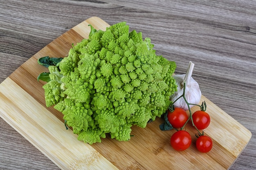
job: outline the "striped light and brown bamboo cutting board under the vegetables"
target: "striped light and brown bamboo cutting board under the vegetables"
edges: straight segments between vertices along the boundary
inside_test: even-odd
[[[117,141],[107,135],[101,143],[89,145],[78,141],[71,129],[65,129],[63,115],[53,107],[45,107],[44,82],[37,82],[37,76],[48,70],[38,65],[37,60],[47,55],[66,56],[72,43],[88,38],[88,24],[97,30],[109,26],[97,17],[85,20],[45,46],[0,84],[2,119],[63,170],[229,169],[252,133],[204,96],[201,102],[207,103],[211,116],[205,134],[213,139],[213,148],[208,153],[196,150],[196,130],[191,124],[186,127],[192,136],[191,147],[182,152],[173,150],[170,137],[175,130],[159,130],[163,122],[160,118],[146,128],[133,126],[130,141]],[[192,108],[192,112],[194,109],[198,108]]]

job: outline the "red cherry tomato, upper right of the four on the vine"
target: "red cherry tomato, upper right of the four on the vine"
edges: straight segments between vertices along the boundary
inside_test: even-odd
[[[202,110],[198,110],[193,113],[192,119],[195,127],[198,128],[198,130],[206,129],[211,121],[209,114]]]

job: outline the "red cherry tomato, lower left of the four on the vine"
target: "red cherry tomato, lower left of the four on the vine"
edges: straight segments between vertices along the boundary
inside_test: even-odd
[[[177,151],[186,150],[191,145],[189,132],[179,130],[171,136],[171,146]]]

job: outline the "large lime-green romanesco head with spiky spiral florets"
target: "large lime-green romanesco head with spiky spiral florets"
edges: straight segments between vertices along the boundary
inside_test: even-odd
[[[177,91],[176,63],[156,55],[150,38],[129,32],[126,22],[96,30],[73,45],[43,86],[47,107],[63,113],[78,139],[101,142],[106,133],[130,140],[133,125],[161,117]]]

